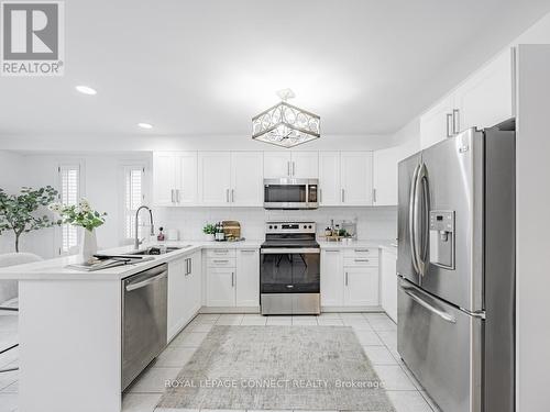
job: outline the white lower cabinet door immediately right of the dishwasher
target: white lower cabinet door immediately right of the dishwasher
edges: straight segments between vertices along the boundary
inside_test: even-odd
[[[167,309],[167,338],[172,339],[186,323],[187,287],[185,258],[170,261],[168,265],[168,309]]]

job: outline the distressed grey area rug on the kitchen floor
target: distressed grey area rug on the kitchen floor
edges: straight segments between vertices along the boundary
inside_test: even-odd
[[[215,326],[157,407],[395,411],[348,326]]]

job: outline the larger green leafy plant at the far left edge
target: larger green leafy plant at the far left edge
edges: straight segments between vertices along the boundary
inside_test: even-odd
[[[56,196],[57,190],[51,186],[40,189],[22,187],[20,194],[8,194],[0,188],[0,234],[13,231],[15,252],[19,252],[19,238],[23,233],[61,224],[61,221],[35,213],[41,207],[48,205]]]

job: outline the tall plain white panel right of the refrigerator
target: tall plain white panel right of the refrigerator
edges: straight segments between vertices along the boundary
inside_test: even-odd
[[[549,20],[550,22],[550,20]],[[550,45],[518,48],[516,141],[517,411],[549,409]]]

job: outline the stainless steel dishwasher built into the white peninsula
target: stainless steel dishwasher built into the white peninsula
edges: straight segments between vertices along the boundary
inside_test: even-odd
[[[166,347],[168,265],[122,280],[122,390]]]

